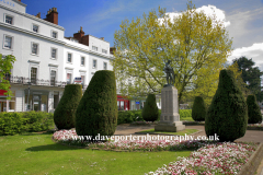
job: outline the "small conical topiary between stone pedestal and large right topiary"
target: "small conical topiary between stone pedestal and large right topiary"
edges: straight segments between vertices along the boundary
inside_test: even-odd
[[[204,121],[206,117],[206,106],[202,96],[196,96],[192,109],[192,118],[195,121]]]

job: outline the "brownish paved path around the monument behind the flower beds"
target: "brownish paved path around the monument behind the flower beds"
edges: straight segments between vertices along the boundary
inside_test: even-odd
[[[155,126],[133,126],[129,124],[123,124],[118,125],[116,128],[116,131],[114,136],[133,136],[133,137],[141,137],[141,135],[136,135],[135,132],[139,132],[141,130],[147,129],[153,129]],[[204,126],[185,126],[185,129],[198,129],[199,132],[193,135],[194,139],[196,139],[198,136],[206,136],[205,133],[205,127]],[[146,136],[146,135],[145,135]],[[149,135],[150,137],[153,137],[156,135]],[[237,139],[236,141],[245,141],[245,142],[263,142],[263,131],[258,130],[247,130],[244,137]],[[263,160],[261,161],[261,164],[258,168],[256,175],[263,175]]]

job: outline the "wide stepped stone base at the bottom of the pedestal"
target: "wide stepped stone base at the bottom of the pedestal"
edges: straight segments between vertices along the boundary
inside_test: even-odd
[[[169,122],[159,122],[155,126],[155,131],[169,131],[169,132],[178,132],[185,129],[185,125],[182,121],[174,121],[172,124]]]

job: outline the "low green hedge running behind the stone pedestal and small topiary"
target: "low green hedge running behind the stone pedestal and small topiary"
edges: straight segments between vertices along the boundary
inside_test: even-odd
[[[117,125],[130,124],[133,121],[144,121],[141,112],[142,112],[141,109],[140,110],[119,110]],[[185,117],[192,117],[192,109],[181,109],[179,114],[180,114],[180,119]],[[160,116],[161,116],[161,109],[158,109],[158,121],[160,120]]]

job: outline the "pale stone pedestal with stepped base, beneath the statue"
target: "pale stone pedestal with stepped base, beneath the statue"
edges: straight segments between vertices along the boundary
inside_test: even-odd
[[[155,127],[156,131],[176,132],[185,129],[185,125],[180,121],[178,90],[172,86],[165,86],[161,91],[161,118]]]

